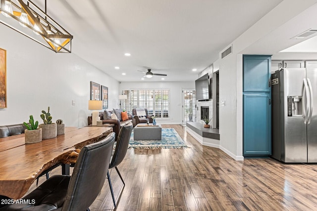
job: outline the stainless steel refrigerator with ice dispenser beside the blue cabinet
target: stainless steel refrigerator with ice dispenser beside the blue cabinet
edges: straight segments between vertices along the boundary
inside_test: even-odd
[[[317,163],[317,68],[272,74],[272,156],[285,163]]]

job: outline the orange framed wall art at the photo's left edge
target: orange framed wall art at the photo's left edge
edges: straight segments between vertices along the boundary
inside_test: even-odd
[[[0,48],[0,108],[6,108],[6,104],[6,50]]]

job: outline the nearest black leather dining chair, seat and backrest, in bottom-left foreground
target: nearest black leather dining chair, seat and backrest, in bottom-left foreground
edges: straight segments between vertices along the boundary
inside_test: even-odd
[[[89,211],[100,193],[108,171],[115,133],[84,146],[71,176],[53,175],[22,199],[0,211]]]

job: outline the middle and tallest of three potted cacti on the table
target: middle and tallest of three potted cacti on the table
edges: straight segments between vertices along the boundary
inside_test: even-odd
[[[48,112],[42,111],[41,119],[43,124],[40,124],[39,127],[42,128],[42,138],[55,138],[57,136],[57,126],[56,123],[52,123],[50,107],[48,107]]]

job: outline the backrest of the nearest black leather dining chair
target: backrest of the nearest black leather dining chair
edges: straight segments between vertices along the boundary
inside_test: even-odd
[[[81,149],[61,211],[87,210],[95,201],[106,180],[114,140],[112,132]]]

